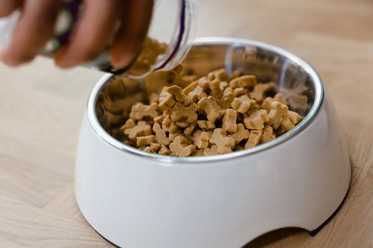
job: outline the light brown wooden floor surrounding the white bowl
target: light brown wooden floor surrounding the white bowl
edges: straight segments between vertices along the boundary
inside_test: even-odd
[[[315,236],[284,229],[247,247],[373,247],[373,1],[198,0],[197,36],[255,39],[310,62],[334,101],[353,174],[339,213]],[[101,72],[47,59],[0,65],[0,247],[111,247],[74,198],[87,97]]]

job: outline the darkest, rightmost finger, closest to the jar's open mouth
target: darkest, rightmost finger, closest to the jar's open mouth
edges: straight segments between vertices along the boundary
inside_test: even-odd
[[[111,47],[111,62],[123,68],[132,62],[145,39],[153,12],[153,0],[125,0],[122,26]]]

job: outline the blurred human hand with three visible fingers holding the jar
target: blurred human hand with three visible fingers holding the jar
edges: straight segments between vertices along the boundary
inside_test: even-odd
[[[20,9],[21,15],[0,60],[10,66],[30,62],[54,36],[63,0],[0,0],[0,17]],[[83,0],[84,11],[68,44],[55,54],[68,68],[95,59],[111,44],[111,63],[126,67],[141,48],[150,25],[153,0]]]

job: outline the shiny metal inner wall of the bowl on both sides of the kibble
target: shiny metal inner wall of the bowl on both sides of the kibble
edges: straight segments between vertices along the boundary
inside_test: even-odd
[[[228,74],[239,70],[244,74],[256,75],[259,83],[274,82],[276,89],[268,92],[268,96],[282,93],[289,102],[289,109],[306,117],[296,126],[298,130],[290,130],[286,136],[295,135],[297,131],[308,124],[322,104],[322,83],[313,68],[295,55],[271,45],[224,39],[195,42],[183,64],[186,75],[201,77],[215,69],[225,68]],[[108,134],[119,141],[123,141],[119,127],[126,121],[125,117],[134,103],[126,102],[125,99],[120,100],[120,98],[127,96],[128,99],[134,98],[136,100],[137,98],[134,96],[138,96],[137,101],[140,101],[146,95],[144,80],[124,80],[127,80],[129,85],[133,85],[133,87],[121,89],[120,92],[110,89],[115,83],[115,77],[112,76],[100,85],[97,92],[92,93],[93,96],[91,95],[91,98],[95,99],[93,103],[94,115],[98,123]],[[157,87],[156,83],[152,87]],[[111,101],[119,99],[122,108],[118,109],[117,113],[115,110],[108,113],[107,99]],[[123,108],[127,109],[124,111]],[[110,118],[116,118],[115,122],[108,120]],[[268,143],[276,142],[281,136]]]

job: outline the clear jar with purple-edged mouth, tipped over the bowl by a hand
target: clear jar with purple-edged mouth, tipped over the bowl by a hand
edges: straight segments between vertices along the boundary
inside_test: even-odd
[[[82,2],[82,0],[64,1],[57,19],[55,36],[48,41],[41,55],[52,58],[60,46],[69,41],[79,19]],[[195,0],[154,0],[148,38],[129,66],[114,69],[110,63],[109,46],[96,60],[83,66],[131,78],[141,78],[153,71],[173,69],[190,50],[196,29],[195,11]],[[0,18],[0,44],[9,42],[18,18],[17,11],[8,17]],[[156,50],[161,54],[157,54]]]

